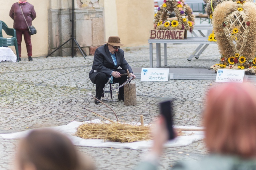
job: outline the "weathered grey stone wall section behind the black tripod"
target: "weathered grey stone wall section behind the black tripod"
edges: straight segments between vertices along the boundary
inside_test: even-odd
[[[72,4],[67,9],[50,8],[48,11],[49,53],[62,45],[52,56],[70,56]],[[96,48],[104,44],[103,8],[98,0],[75,0],[74,38],[86,55],[93,55]],[[75,43],[74,49],[76,56],[82,55]]]

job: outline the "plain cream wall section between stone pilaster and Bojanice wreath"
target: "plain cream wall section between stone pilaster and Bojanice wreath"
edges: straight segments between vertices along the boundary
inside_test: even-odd
[[[105,39],[119,36],[122,47],[147,45],[154,20],[154,0],[104,0]]]

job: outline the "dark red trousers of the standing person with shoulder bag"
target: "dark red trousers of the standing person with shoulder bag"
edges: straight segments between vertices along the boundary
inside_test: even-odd
[[[17,35],[19,57],[21,57],[22,35],[24,35],[24,40],[26,43],[28,56],[32,56],[31,35],[29,34],[29,30],[28,29],[16,29],[16,35]]]

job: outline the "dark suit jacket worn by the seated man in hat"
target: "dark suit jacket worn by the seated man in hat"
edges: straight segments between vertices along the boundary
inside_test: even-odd
[[[89,72],[89,78],[91,82],[94,83],[95,77],[99,72],[105,73],[107,76],[111,77],[111,72],[116,71],[120,66],[122,69],[128,69],[130,73],[132,73],[132,69],[124,58],[124,51],[119,49],[116,53],[116,62],[117,65],[114,66],[113,59],[110,55],[108,45],[105,44],[96,49],[94,53],[93,67]]]

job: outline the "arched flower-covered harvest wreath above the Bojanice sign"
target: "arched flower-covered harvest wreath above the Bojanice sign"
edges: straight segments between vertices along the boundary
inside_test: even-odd
[[[184,0],[164,0],[155,13],[154,24],[156,30],[188,30],[194,28],[195,15]],[[176,19],[167,17],[168,12],[175,12]],[[187,17],[186,17],[187,15]]]

